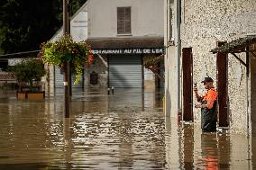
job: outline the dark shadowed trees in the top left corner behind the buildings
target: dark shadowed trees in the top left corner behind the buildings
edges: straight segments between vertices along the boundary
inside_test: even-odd
[[[72,10],[86,1],[70,1]],[[61,25],[62,0],[1,0],[0,52],[37,50]]]

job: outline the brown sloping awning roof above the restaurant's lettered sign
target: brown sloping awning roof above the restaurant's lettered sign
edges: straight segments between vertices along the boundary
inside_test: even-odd
[[[151,38],[97,38],[87,39],[92,49],[140,49],[140,48],[162,48],[163,37]]]

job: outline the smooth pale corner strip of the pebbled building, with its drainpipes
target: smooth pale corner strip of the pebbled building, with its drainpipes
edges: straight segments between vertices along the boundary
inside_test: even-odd
[[[169,57],[169,49],[166,49],[166,66],[169,66],[169,59],[175,59],[171,60],[170,62],[175,63],[173,69],[175,69],[175,75],[171,75],[171,78],[175,79],[175,81],[177,81],[176,83],[174,83],[173,85],[169,85],[169,70],[166,69],[166,116],[170,116],[170,111],[169,109],[171,109],[172,112],[174,112],[175,114],[173,116],[177,116],[178,114],[181,113],[181,105],[180,105],[180,53],[181,53],[181,47],[180,47],[180,0],[166,0],[166,4],[167,4],[167,16],[166,16],[166,41],[165,41],[165,45],[167,47],[175,45],[175,47],[172,47],[173,49],[173,57]],[[173,10],[174,10],[174,20],[173,20],[173,26],[171,21],[172,18],[172,9],[170,8],[170,4],[173,4]],[[174,40],[174,43],[172,43],[172,40]],[[166,67],[168,68],[168,67]],[[177,70],[176,70],[177,68]],[[169,86],[173,86],[172,89],[169,89]],[[172,90],[172,93],[170,93],[169,91]],[[171,95],[171,97],[170,97]],[[172,100],[170,100],[170,98]],[[174,105],[175,104],[175,105]]]

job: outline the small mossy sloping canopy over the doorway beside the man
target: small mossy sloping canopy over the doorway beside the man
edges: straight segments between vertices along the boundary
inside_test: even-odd
[[[213,52],[214,54],[217,52],[225,52],[225,53],[245,52],[245,48],[254,43],[256,43],[256,35],[250,35],[244,38],[232,40],[228,43],[225,43],[221,47],[211,49],[210,52]]]

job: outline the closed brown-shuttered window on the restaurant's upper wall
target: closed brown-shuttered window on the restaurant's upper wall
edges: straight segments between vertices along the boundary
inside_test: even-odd
[[[131,33],[131,7],[117,8],[117,34]]]

